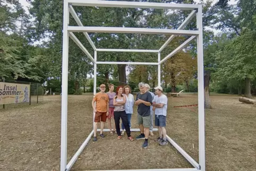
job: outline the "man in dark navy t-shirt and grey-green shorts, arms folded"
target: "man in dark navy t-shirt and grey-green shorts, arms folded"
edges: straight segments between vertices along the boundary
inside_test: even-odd
[[[148,147],[149,127],[150,127],[150,106],[152,105],[152,96],[146,90],[143,82],[139,83],[140,92],[136,96],[135,105],[138,106],[137,122],[140,126],[140,135],[136,136],[136,140],[145,139],[142,144],[143,148]]]

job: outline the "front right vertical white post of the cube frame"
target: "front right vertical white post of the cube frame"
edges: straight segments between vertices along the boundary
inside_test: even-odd
[[[202,6],[198,8],[197,13],[197,37],[198,51],[198,126],[199,126],[199,165],[201,170],[206,169],[205,149],[204,149],[204,85],[203,85],[203,25],[202,25]]]

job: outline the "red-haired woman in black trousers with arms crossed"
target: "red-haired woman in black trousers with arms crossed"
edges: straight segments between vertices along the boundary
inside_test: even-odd
[[[125,96],[123,96],[123,88],[122,86],[119,86],[116,89],[116,97],[114,98],[114,101],[113,101],[113,105],[115,106],[114,119],[116,124],[116,133],[118,135],[117,139],[121,139],[121,131],[120,131],[120,118],[121,118],[125,127],[126,134],[128,136],[128,139],[131,141],[134,141],[131,136],[128,117],[125,113],[125,106],[124,106],[125,102],[126,102],[126,98]]]

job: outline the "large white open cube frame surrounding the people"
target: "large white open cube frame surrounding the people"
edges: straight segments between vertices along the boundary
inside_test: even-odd
[[[158,8],[173,10],[191,10],[189,16],[183,21],[177,30],[172,29],[149,29],[149,28],[118,28],[118,27],[84,27],[78,15],[75,13],[74,6],[99,6],[99,7],[130,7],[130,8]],[[78,26],[69,26],[69,14],[73,16]],[[197,30],[182,30],[191,19],[197,15]],[[72,32],[83,32],[87,40],[90,42],[94,50],[94,57],[90,55],[88,50],[81,44],[78,38]],[[147,33],[147,34],[172,34],[165,44],[158,50],[147,49],[97,49],[90,39],[87,32],[115,32],[115,33]],[[160,59],[161,51],[169,44],[176,35],[191,36],[182,45],[177,47],[172,53],[162,60]],[[168,4],[168,3],[148,3],[148,2],[125,2],[125,1],[96,1],[96,0],[64,0],[63,5],[63,57],[62,57],[62,117],[61,117],[61,171],[70,170],[78,156],[86,147],[87,143],[93,135],[93,129],[88,138],[82,143],[81,147],[67,163],[67,78],[68,78],[68,58],[69,58],[69,37],[78,45],[82,51],[91,59],[94,64],[94,75],[96,75],[97,64],[134,64],[134,65],[158,65],[158,86],[160,86],[160,65],[168,58],[172,57],[192,40],[197,38],[198,53],[198,124],[199,124],[199,164],[190,157],[176,142],[169,136],[168,141],[190,162],[194,168],[172,168],[172,169],[139,169],[139,170],[202,170],[205,168],[205,149],[204,149],[204,91],[203,91],[203,26],[202,26],[202,5],[199,4]],[[158,62],[98,62],[97,52],[148,52],[158,53]],[[96,94],[96,79],[93,80],[93,95]],[[93,114],[94,119],[95,114]],[[92,125],[93,126],[93,125]],[[98,129],[98,131],[100,131]],[[104,129],[109,131],[109,129]],[[131,129],[131,131],[139,131],[139,129]],[[154,129],[153,131],[157,131]]]

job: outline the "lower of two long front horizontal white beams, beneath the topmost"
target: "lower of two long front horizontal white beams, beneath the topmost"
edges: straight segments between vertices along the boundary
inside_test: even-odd
[[[197,36],[198,30],[174,30],[174,29],[150,29],[150,28],[124,28],[124,27],[80,27],[69,26],[71,32],[105,32],[105,33],[140,33],[140,34],[161,34],[161,35],[187,35]]]

